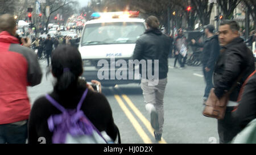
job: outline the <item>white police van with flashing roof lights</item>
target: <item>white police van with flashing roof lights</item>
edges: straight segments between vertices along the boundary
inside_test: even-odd
[[[120,79],[114,75],[120,73],[121,65],[116,65],[118,60],[128,64],[135,42],[146,30],[144,19],[138,18],[138,15],[138,11],[92,14],[94,19],[85,23],[79,44],[84,65],[82,76],[86,81],[96,79],[102,86],[140,82],[128,78],[128,66],[122,68],[122,74],[127,74],[127,78]]]

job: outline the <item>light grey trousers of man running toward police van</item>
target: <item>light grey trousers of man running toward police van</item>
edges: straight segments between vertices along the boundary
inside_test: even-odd
[[[141,81],[141,89],[143,91],[143,97],[145,104],[151,103],[155,106],[156,112],[158,112],[158,122],[159,122],[159,130],[155,131],[156,133],[163,132],[163,124],[164,124],[164,91],[167,85],[167,78],[159,79],[158,85],[156,86],[148,86],[148,79],[142,79]]]

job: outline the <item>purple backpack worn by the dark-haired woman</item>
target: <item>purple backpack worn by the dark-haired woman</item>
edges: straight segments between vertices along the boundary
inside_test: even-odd
[[[56,102],[48,94],[47,100],[51,102],[62,113],[51,115],[47,122],[49,131],[53,132],[52,143],[57,144],[106,144],[108,143],[96,127],[81,111],[82,102],[88,93],[88,89],[82,94],[77,108],[74,110],[66,110],[63,106]]]

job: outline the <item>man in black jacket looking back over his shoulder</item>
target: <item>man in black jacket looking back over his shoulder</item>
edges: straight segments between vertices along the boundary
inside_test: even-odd
[[[239,131],[233,127],[231,112],[238,105],[238,94],[243,82],[255,70],[253,53],[239,36],[239,28],[236,21],[224,20],[218,31],[222,49],[214,69],[214,95],[220,99],[237,84],[229,95],[224,119],[218,120],[220,143],[229,143]],[[238,77],[241,77],[239,81]]]

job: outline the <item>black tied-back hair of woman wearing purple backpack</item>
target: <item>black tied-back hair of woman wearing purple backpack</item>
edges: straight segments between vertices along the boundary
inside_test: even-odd
[[[52,74],[57,78],[55,90],[68,93],[76,89],[82,74],[80,52],[71,46],[61,45],[52,53]]]

